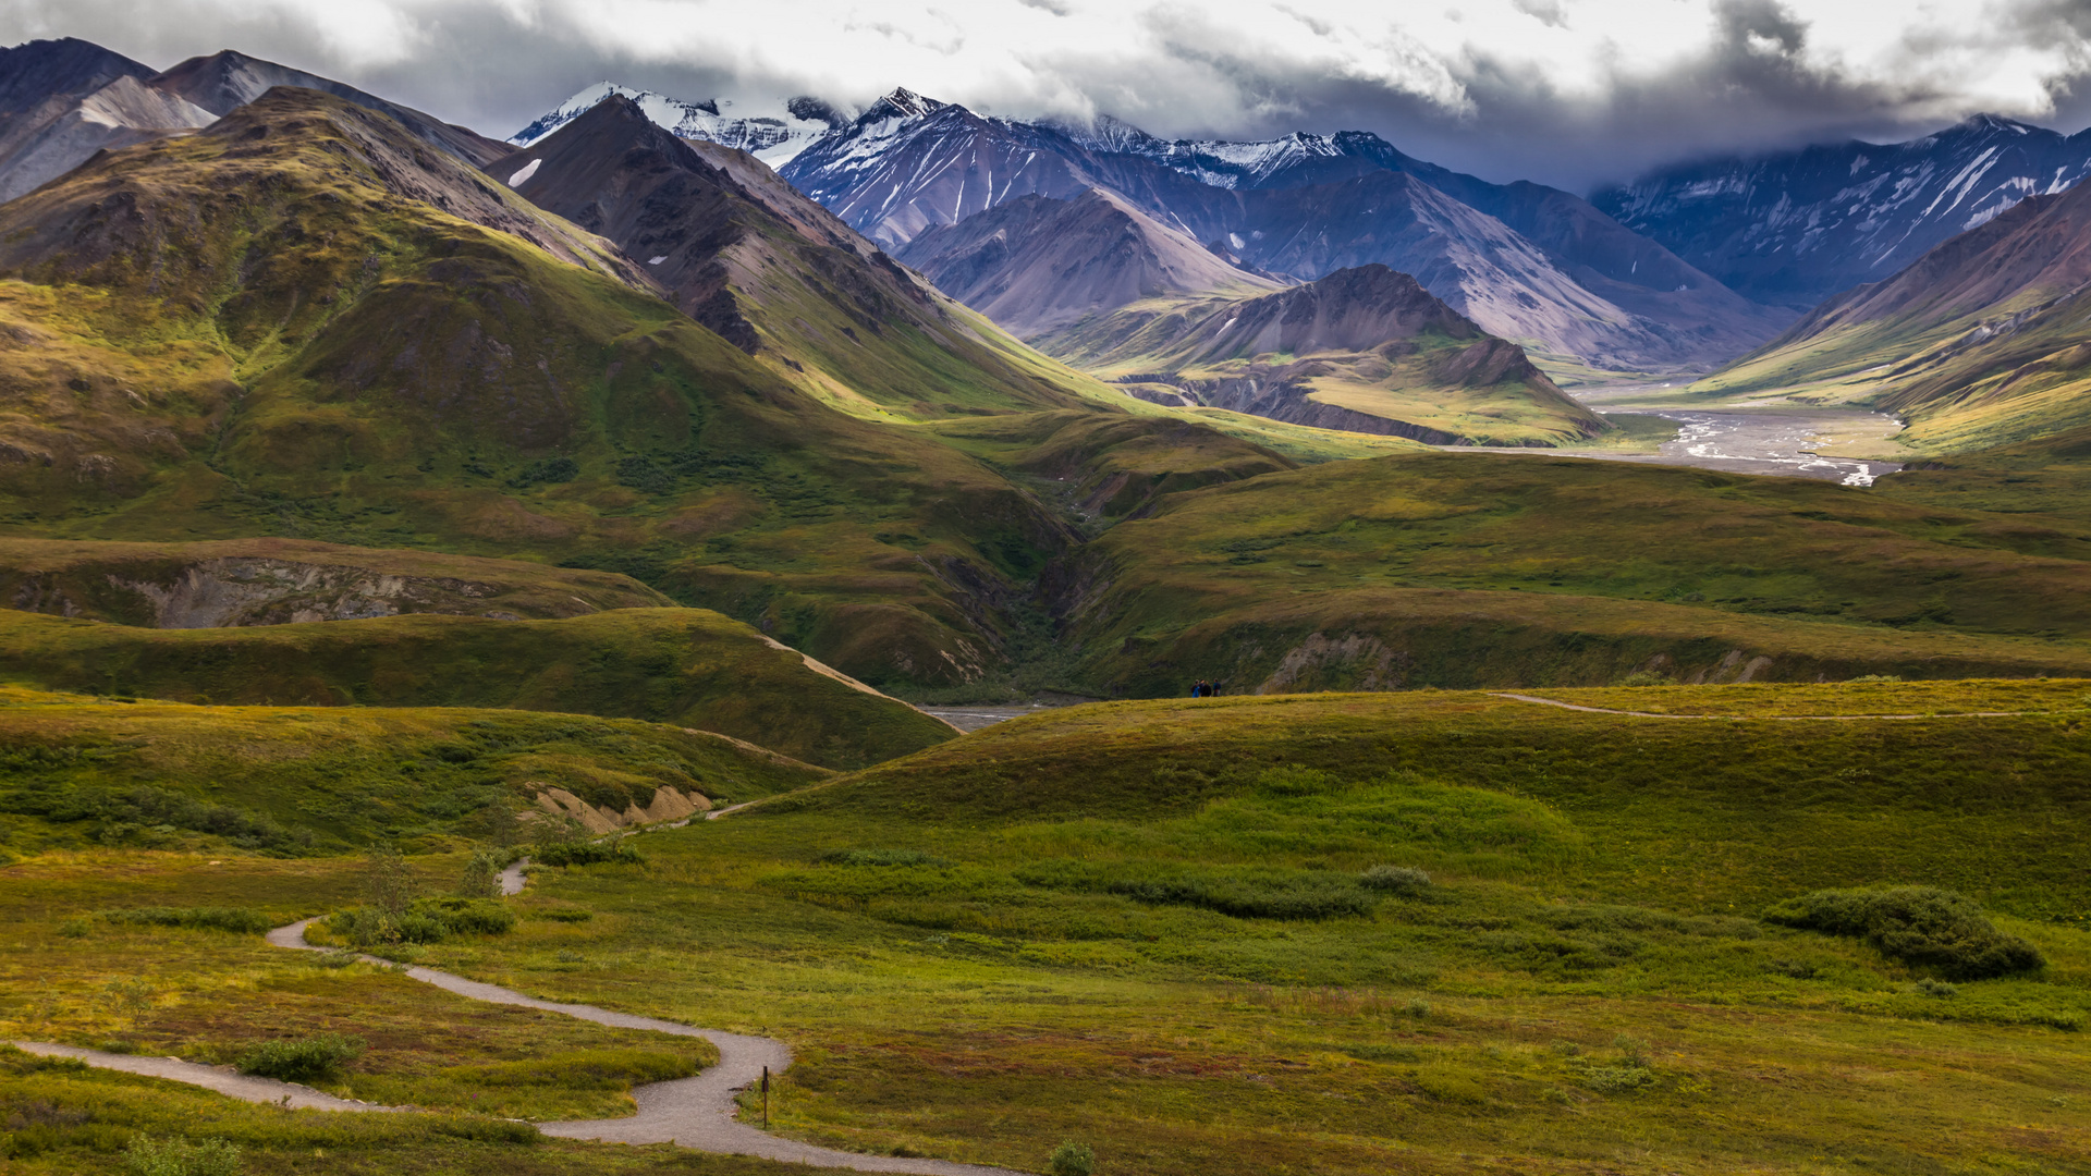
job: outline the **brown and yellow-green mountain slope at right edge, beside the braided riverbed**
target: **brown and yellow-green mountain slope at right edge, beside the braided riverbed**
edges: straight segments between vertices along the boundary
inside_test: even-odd
[[[1844,291],[1700,387],[1867,400],[1911,439],[1980,448],[2091,423],[2091,188],[2026,197]]]

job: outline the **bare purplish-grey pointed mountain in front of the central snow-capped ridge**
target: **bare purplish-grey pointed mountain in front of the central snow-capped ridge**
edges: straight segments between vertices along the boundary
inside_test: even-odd
[[[1020,339],[1152,297],[1255,295],[1284,282],[1230,266],[1123,197],[1018,197],[939,224],[897,253],[937,289]]]

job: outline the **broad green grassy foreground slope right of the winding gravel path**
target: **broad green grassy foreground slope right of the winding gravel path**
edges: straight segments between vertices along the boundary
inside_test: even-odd
[[[1037,1168],[1073,1136],[1138,1174],[1242,1155],[1700,1174],[1825,1153],[2076,1172],[2085,682],[1945,691],[1800,701],[2062,711],[1664,722],[1457,693],[1052,711],[654,837],[644,881],[550,883],[615,925],[437,958],[782,1034],[799,1063],[776,1120],[864,1151]],[[847,847],[941,862],[820,860]],[[1108,889],[1322,885],[1380,862],[1434,885],[1305,921]],[[2047,969],[1932,996],[1863,944],[1754,921],[1811,887],[1892,883],[1978,896]],[[554,942],[590,965],[552,975]]]

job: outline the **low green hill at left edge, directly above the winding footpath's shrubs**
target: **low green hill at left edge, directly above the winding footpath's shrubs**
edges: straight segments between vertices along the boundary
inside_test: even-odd
[[[548,789],[611,814],[753,799],[824,772],[636,720],[376,707],[192,707],[0,691],[0,847],[249,850],[514,837]],[[684,810],[686,812],[686,810]],[[447,889],[447,887],[445,887]]]

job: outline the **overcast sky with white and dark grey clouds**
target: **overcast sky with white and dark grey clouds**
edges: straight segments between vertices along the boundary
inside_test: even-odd
[[[1374,130],[1575,190],[1976,111],[2091,123],[2091,0],[0,0],[0,40],[52,36],[155,67],[238,48],[496,138],[604,77],[744,105],[907,86],[1163,136]]]

